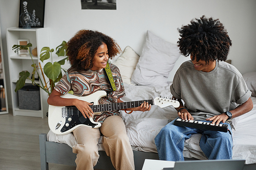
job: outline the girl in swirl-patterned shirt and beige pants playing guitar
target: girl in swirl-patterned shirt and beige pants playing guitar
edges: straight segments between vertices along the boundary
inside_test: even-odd
[[[134,169],[134,158],[129,138],[119,110],[93,113],[89,103],[79,99],[65,99],[61,95],[70,90],[78,96],[93,94],[98,90],[108,91],[108,95],[99,99],[99,104],[121,103],[120,98],[125,95],[120,71],[110,63],[116,90],[106,78],[104,68],[109,59],[121,52],[118,44],[111,37],[97,31],[80,30],[72,37],[68,45],[67,55],[71,68],[54,87],[48,98],[48,104],[53,106],[76,106],[85,118],[93,117],[94,122],[101,123],[101,127],[93,129],[88,126],[79,126],[73,130],[78,144],[73,146],[77,154],[77,169],[93,169],[98,154],[98,140],[103,135],[102,144],[108,156],[111,157],[116,169]],[[126,110],[147,111],[151,109],[148,103]]]

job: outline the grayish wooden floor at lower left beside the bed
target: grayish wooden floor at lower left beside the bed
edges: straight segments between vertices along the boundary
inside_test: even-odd
[[[39,134],[48,133],[48,119],[0,114],[0,169],[40,168]],[[50,170],[75,170],[75,166],[49,164]]]

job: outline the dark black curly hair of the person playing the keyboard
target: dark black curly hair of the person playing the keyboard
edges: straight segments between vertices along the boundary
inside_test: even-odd
[[[192,60],[225,61],[232,45],[226,29],[219,19],[206,18],[204,15],[200,19],[190,21],[187,26],[178,29],[181,38],[178,46],[181,54],[189,56],[193,54]]]

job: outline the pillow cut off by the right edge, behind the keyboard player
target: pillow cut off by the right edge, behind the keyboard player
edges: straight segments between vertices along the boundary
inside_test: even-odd
[[[251,95],[256,97],[256,72],[247,72],[243,75],[244,81],[251,91]]]

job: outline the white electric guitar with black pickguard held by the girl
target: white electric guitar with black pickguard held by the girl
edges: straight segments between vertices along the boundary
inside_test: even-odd
[[[61,95],[61,98],[79,99],[93,103],[91,109],[94,114],[100,114],[103,111],[120,110],[127,108],[139,107],[144,101],[151,105],[158,105],[161,108],[166,106],[179,107],[180,103],[175,100],[166,98],[156,98],[151,100],[123,102],[123,103],[110,103],[98,105],[98,100],[106,96],[105,91],[96,91],[87,96],[76,96],[72,94]],[[93,118],[85,118],[82,113],[75,106],[49,106],[48,124],[51,131],[57,135],[64,135],[72,132],[79,126],[90,126],[92,128],[99,128],[100,123],[94,122]]]

